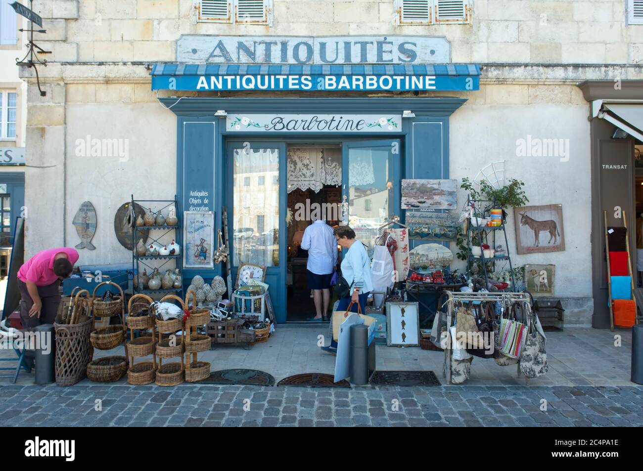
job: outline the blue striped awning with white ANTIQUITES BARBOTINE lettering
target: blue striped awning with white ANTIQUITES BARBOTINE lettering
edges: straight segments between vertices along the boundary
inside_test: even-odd
[[[480,66],[154,64],[152,90],[475,91]]]

